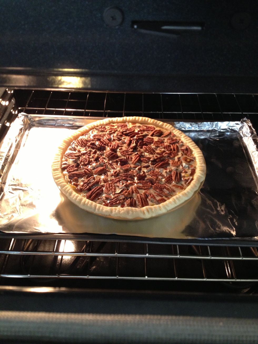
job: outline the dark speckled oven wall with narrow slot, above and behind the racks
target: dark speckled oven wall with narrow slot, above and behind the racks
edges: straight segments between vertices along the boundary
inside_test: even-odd
[[[5,2],[0,86],[256,93],[257,12],[256,1]]]

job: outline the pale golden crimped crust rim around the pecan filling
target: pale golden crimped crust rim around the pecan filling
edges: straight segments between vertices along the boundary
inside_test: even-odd
[[[64,173],[61,169],[62,159],[64,154],[67,151],[67,148],[70,146],[71,142],[78,139],[83,134],[89,132],[100,126],[109,125],[110,123],[137,123],[140,125],[151,125],[165,131],[172,132],[172,135],[180,138],[186,146],[188,146],[195,157],[196,168],[191,184],[187,186],[182,192],[172,196],[167,201],[157,204],[157,205],[148,205],[141,208],[134,207],[118,207],[118,206],[105,206],[103,204],[98,204],[94,201],[87,199],[82,194],[76,192],[75,188],[72,185],[68,184],[65,180]],[[55,155],[54,162],[52,164],[52,173],[53,178],[59,187],[59,189],[76,205],[80,208],[85,209],[88,212],[95,213],[105,217],[111,217],[116,219],[144,219],[162,215],[168,211],[172,211],[175,208],[178,208],[182,204],[189,201],[199,190],[203,184],[206,174],[206,165],[204,157],[200,149],[196,144],[184,133],[175,129],[169,124],[163,123],[161,121],[153,120],[150,118],[144,117],[122,117],[122,118],[107,118],[100,120],[94,123],[76,130],[71,136],[66,138],[58,147],[57,154]]]

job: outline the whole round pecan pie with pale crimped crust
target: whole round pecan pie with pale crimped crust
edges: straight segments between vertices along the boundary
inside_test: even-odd
[[[52,172],[60,190],[98,215],[144,219],[196,194],[206,173],[196,144],[169,124],[144,117],[100,120],[58,148]]]

